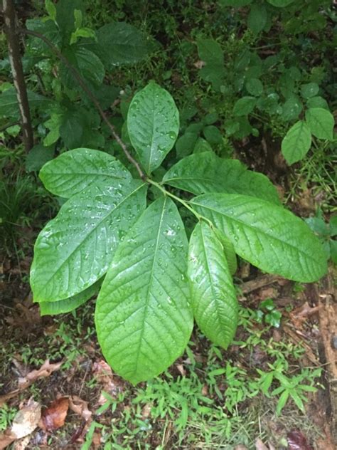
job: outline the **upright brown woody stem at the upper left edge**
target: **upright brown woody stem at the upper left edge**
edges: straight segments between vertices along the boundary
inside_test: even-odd
[[[3,0],[4,30],[9,48],[9,61],[13,75],[18,109],[21,115],[21,127],[23,132],[23,143],[26,152],[33,147],[33,129],[31,127],[31,113],[29,111],[28,95],[20,54],[20,44],[16,28],[16,14],[12,0]]]

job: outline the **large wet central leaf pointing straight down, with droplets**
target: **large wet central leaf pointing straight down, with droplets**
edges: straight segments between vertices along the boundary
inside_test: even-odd
[[[178,209],[161,197],[134,225],[109,267],[97,298],[98,340],[112,368],[134,384],[169,367],[191,335],[187,253]]]

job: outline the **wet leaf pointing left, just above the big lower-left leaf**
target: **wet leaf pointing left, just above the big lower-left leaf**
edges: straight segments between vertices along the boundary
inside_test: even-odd
[[[99,150],[77,148],[43,166],[39,177],[48,191],[69,198],[92,184],[131,181],[130,172],[116,158]]]

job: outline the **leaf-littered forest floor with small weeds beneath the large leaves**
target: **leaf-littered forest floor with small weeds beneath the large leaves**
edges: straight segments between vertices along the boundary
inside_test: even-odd
[[[301,192],[289,205],[307,215],[316,200]],[[196,329],[166,374],[132,387],[102,357],[95,298],[73,314],[41,317],[28,285],[37,232],[24,226],[16,251],[1,254],[0,448],[13,441],[13,422],[32,431],[11,444],[16,450],[334,448],[332,266],[319,283],[300,284],[241,262],[230,348]]]

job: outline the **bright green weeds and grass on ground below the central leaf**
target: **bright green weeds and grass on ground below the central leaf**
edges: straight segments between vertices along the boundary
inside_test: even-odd
[[[241,327],[250,333],[245,342],[235,342],[242,362],[215,346],[201,356],[200,342],[192,341],[178,369],[183,375],[172,367],[140,387],[126,385],[117,397],[105,393],[107,402],[97,409],[92,425],[101,429],[104,449],[255,448],[255,439],[268,434],[262,417],[279,420],[289,409],[297,409],[299,424],[309,427],[303,424],[303,403],[308,391],[316,391],[321,369],[301,367],[304,349],[275,342],[270,327],[257,329],[252,310],[242,309]],[[249,359],[257,347],[267,354],[264,370]],[[109,414],[112,418],[106,419]]]

